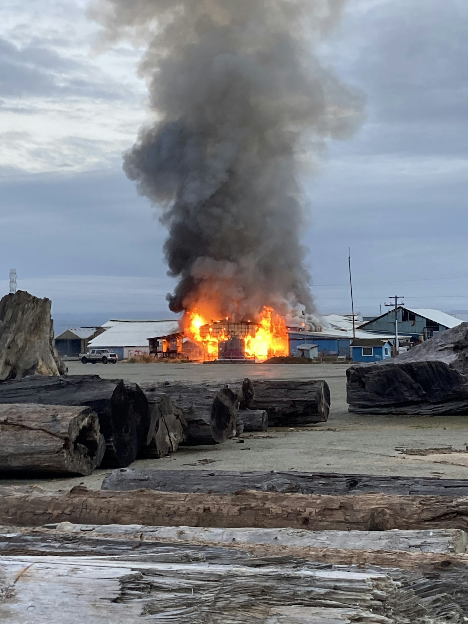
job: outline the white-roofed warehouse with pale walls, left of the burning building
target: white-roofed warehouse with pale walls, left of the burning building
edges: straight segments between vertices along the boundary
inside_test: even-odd
[[[119,321],[110,320],[103,334],[89,343],[89,348],[109,349],[119,360],[137,357],[150,352],[149,338],[174,334],[178,321]]]

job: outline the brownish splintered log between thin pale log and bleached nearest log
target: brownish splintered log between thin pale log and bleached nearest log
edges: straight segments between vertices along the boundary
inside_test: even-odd
[[[425,602],[434,610],[434,615],[443,616],[442,622],[446,622],[447,617],[451,622],[463,621],[455,617],[459,607],[465,614],[468,612],[466,592],[460,591],[468,582],[467,555],[291,547],[276,542],[226,542],[222,546],[200,540],[199,544],[168,543],[165,540],[160,541],[161,536],[155,534],[154,529],[155,527],[139,525],[94,526],[72,525],[68,522],[39,529],[0,527],[0,553],[16,556],[117,555],[119,560],[131,558],[132,562],[144,562],[150,555],[152,563],[205,561],[255,568],[271,565],[297,567],[298,563],[304,565],[304,561],[308,560],[305,564],[306,573],[320,570],[325,563],[329,570],[378,572],[389,576],[404,587],[411,588],[416,595],[424,597]],[[160,530],[164,529],[157,527],[157,531]],[[173,530],[183,532],[184,527]],[[356,568],[356,565],[359,567]]]

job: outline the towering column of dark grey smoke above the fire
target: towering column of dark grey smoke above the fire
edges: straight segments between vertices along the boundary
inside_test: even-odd
[[[240,320],[269,305],[290,318],[305,310],[314,324],[298,178],[327,139],[348,138],[360,119],[359,97],[316,54],[343,4],[94,4],[107,36],[146,49],[140,72],[155,122],[140,130],[124,170],[162,207],[168,275],[178,278],[172,311]]]

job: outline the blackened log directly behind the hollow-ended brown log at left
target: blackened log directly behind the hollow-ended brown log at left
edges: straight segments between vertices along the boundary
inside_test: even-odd
[[[135,461],[147,442],[148,402],[136,384],[100,379],[95,375],[39,377],[0,384],[0,404],[89,406],[99,417],[105,438],[101,466],[125,467]]]

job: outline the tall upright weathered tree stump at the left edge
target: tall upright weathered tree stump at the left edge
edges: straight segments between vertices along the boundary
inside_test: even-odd
[[[63,375],[57,353],[51,301],[21,290],[0,301],[0,381],[28,375]]]

